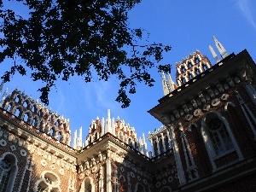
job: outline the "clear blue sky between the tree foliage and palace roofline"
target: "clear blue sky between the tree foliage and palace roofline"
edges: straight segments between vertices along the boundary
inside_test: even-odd
[[[170,44],[172,51],[165,55],[163,63],[172,64],[172,79],[175,79],[175,63],[199,49],[214,63],[208,45],[213,47],[212,36],[218,38],[228,53],[238,54],[247,49],[256,61],[256,1],[254,0],[143,0],[130,12],[132,27],[141,27],[150,33],[149,42]],[[213,49],[215,46],[213,47]],[[217,49],[215,49],[217,51]],[[0,75],[13,61],[0,65]],[[125,119],[135,127],[137,136],[160,127],[147,111],[163,96],[160,74],[155,70],[154,87],[137,85],[137,93],[131,96],[131,106],[120,108],[115,102],[119,82],[114,78],[108,82],[85,84],[74,77],[69,82],[56,82],[56,88],[49,94],[49,108],[70,119],[72,133],[83,126],[83,142],[88,133],[90,121],[98,116]],[[38,99],[39,82],[29,77],[16,75],[4,85],[9,91],[19,87],[27,96]]]

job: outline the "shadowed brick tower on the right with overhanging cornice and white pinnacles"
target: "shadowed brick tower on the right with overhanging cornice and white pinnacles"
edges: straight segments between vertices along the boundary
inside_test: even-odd
[[[247,50],[228,55],[213,40],[222,59],[212,46],[213,66],[198,50],[183,59],[177,64],[177,88],[149,110],[165,125],[148,137],[154,155],[161,152],[160,142],[154,142],[160,141],[158,132],[168,135],[179,191],[242,190],[256,180],[255,166],[244,164],[256,163],[256,67]]]

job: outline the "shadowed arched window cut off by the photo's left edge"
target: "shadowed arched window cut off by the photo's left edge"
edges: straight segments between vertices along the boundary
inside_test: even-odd
[[[0,191],[12,191],[17,174],[17,160],[13,154],[0,158]]]

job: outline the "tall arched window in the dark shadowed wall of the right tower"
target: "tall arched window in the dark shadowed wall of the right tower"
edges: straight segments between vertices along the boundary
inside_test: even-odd
[[[206,117],[203,119],[203,127],[210,138],[216,156],[225,154],[227,151],[234,148],[224,120],[221,119],[217,113],[207,113]]]

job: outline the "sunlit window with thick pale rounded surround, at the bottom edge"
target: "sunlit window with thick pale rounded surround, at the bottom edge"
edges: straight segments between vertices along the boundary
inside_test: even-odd
[[[60,178],[54,172],[44,171],[35,183],[35,190],[37,192],[61,192],[60,183]]]

